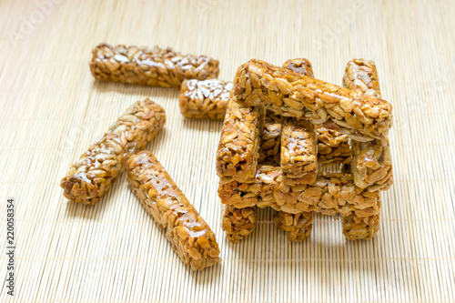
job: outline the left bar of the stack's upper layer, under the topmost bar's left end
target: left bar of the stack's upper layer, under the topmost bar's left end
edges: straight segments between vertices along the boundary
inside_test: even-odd
[[[217,149],[218,177],[242,182],[255,176],[263,126],[262,108],[229,101]]]

